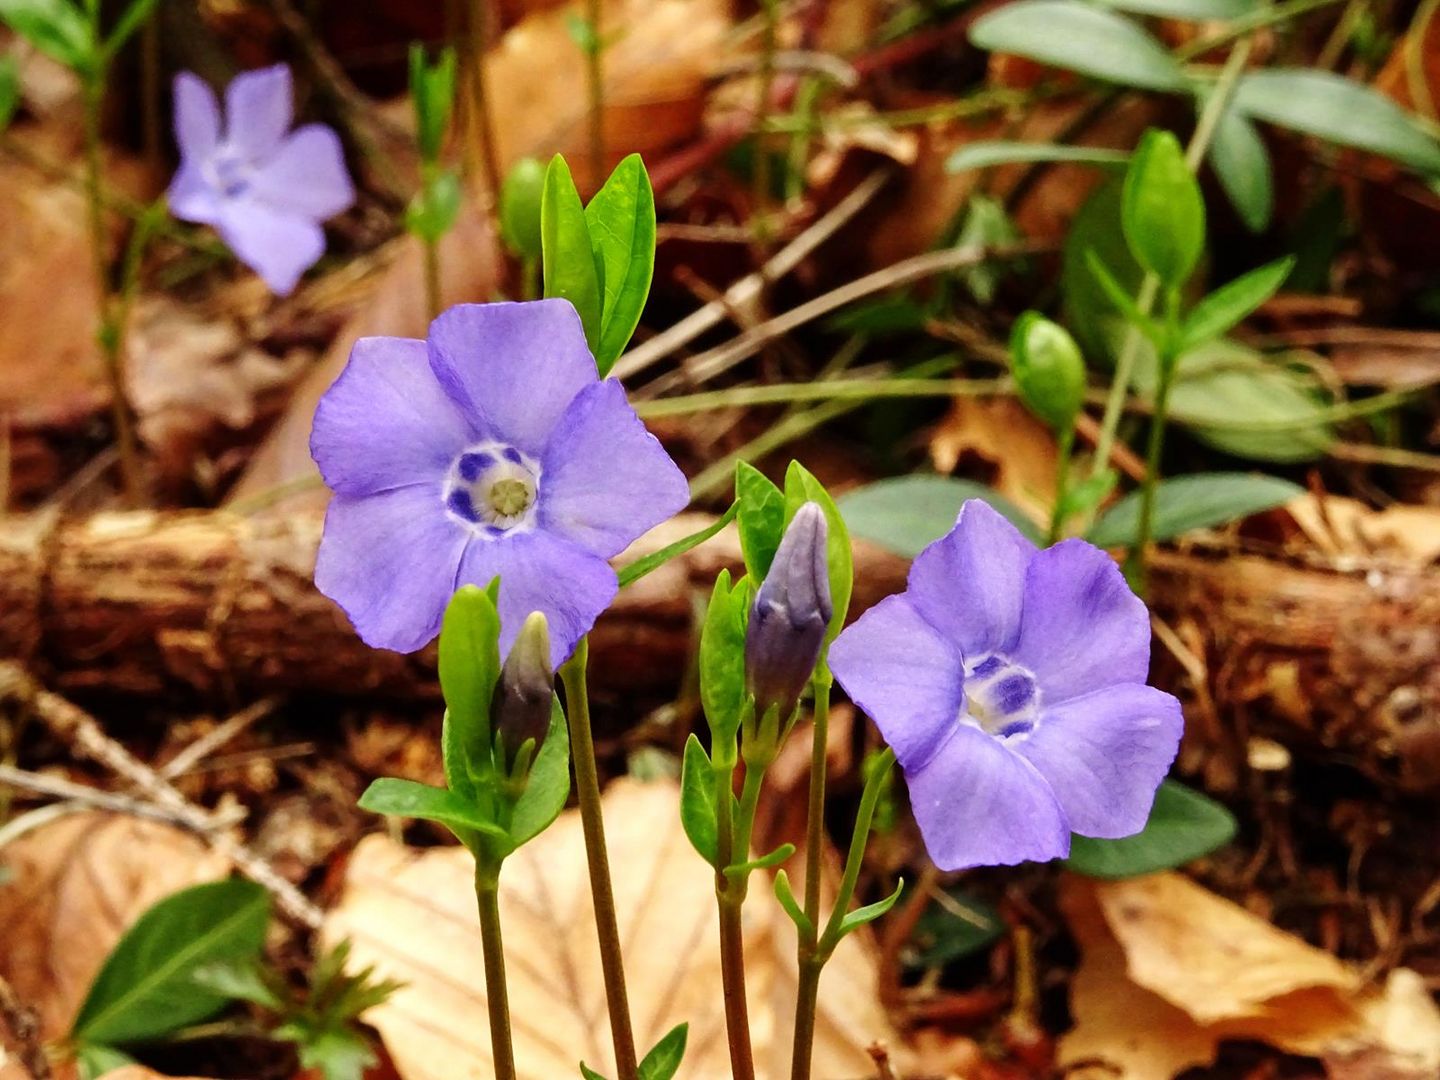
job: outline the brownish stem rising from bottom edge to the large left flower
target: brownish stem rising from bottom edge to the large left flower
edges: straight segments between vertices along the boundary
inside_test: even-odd
[[[589,655],[589,638],[580,638],[575,655],[560,668],[560,681],[564,684],[564,706],[570,721],[575,789],[580,801],[585,855],[590,865],[590,896],[595,901],[595,929],[605,973],[605,1004],[611,1012],[611,1040],[615,1043],[615,1068],[619,1080],[636,1080],[635,1034],[631,1030],[621,932],[615,914],[615,893],[611,888],[611,860],[605,851],[600,775],[595,765],[595,737],[590,733],[590,697],[585,674]]]

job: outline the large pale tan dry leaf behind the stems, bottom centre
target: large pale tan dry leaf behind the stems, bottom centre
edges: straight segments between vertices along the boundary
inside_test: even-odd
[[[636,1040],[649,1047],[688,1021],[680,1076],[729,1077],[714,883],[680,828],[678,789],[618,780],[605,793],[605,818]],[[373,835],[356,850],[323,929],[327,942],[353,942],[356,965],[406,984],[366,1014],[405,1080],[454,1080],[490,1067],[472,890],[464,850],[416,852]],[[580,1058],[613,1073],[576,811],[505,863],[500,909],[520,1076],[575,1076]],[[746,904],[746,965],[757,1074],[788,1076],[795,936],[762,874]],[[852,936],[825,969],[816,1076],[868,1076],[864,1048],[876,1038],[894,1045],[874,986],[868,942]]]

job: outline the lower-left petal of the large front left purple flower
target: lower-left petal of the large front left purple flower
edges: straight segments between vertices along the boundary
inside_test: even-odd
[[[445,516],[438,487],[330,500],[315,588],[373,648],[413,652],[441,631],[469,533]]]

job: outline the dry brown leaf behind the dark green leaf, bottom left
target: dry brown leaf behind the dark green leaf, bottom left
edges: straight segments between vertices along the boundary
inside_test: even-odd
[[[0,851],[0,976],[36,1009],[45,1038],[63,1034],[121,933],[174,891],[230,864],[173,825],[73,814]],[[0,1077],[4,1073],[0,1071]]]

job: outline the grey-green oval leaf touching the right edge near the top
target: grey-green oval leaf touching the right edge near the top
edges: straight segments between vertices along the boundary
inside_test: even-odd
[[[1332,72],[1248,72],[1236,86],[1234,108],[1328,143],[1368,150],[1420,173],[1440,174],[1440,141],[1384,94]]]

